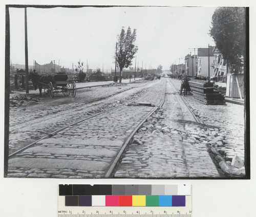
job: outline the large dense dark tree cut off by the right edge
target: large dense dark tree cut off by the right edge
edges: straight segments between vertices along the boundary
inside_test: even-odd
[[[245,21],[245,8],[217,8],[209,32],[227,64],[238,66],[238,70],[243,66],[241,57],[245,57]]]

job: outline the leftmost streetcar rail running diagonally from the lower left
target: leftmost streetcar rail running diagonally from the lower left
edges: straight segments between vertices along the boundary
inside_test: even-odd
[[[148,87],[147,90],[150,90],[151,88],[152,88],[152,85],[151,85],[150,87]],[[74,125],[80,124],[80,123],[82,123],[82,122],[84,122],[84,121],[86,121],[86,120],[88,120],[88,119],[91,119],[91,118],[93,118],[93,117],[95,117],[95,116],[98,116],[98,115],[100,115],[100,114],[102,114],[102,113],[105,113],[105,112],[108,112],[108,111],[110,111],[110,110],[114,110],[114,109],[117,109],[117,108],[119,108],[119,107],[121,107],[121,106],[125,106],[125,104],[130,103],[130,102],[132,102],[132,101],[135,101],[135,100],[137,100],[138,98],[142,97],[142,95],[144,95],[146,92],[147,92],[147,91],[144,91],[142,94],[138,95],[138,97],[136,97],[135,99],[132,99],[132,100],[130,100],[130,101],[127,101],[127,102],[125,102],[125,103],[123,103],[123,104],[121,104],[121,105],[118,105],[118,106],[116,106],[116,107],[107,109],[107,110],[105,110],[105,111],[102,111],[102,112],[93,114],[93,115],[91,115],[91,116],[89,116],[89,117],[86,117],[86,118],[84,118],[84,119],[82,119],[82,120],[79,120],[78,122],[75,122],[75,123],[73,123],[73,124],[71,124],[71,125],[68,125],[68,126],[65,126],[65,127],[63,127],[63,128],[60,128],[60,129],[58,129],[58,130],[55,130],[54,132],[49,133],[47,136],[44,136],[44,137],[42,137],[42,138],[40,138],[40,139],[38,139],[38,140],[36,140],[36,141],[34,141],[34,142],[28,144],[27,146],[23,147],[22,149],[19,149],[19,150],[17,150],[16,152],[13,152],[12,154],[9,155],[9,158],[13,158],[16,154],[18,154],[18,153],[20,153],[20,152],[22,152],[22,151],[24,151],[24,150],[26,150],[26,149],[32,147],[32,146],[33,146],[34,144],[36,144],[38,141],[40,141],[40,140],[42,140],[42,139],[50,138],[50,137],[54,136],[55,134],[57,134],[58,132],[60,132],[60,131],[62,131],[62,130],[64,130],[64,129],[66,129],[66,128],[69,128],[69,127],[72,127],[72,126],[74,126]],[[157,107],[156,107],[156,108],[157,108]]]

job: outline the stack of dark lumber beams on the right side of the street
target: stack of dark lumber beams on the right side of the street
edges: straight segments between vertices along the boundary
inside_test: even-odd
[[[195,100],[206,105],[226,105],[224,95],[215,90],[214,83],[203,80],[188,81]]]

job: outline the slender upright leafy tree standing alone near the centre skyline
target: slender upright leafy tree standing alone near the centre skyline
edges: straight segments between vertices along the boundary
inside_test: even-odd
[[[135,45],[136,40],[136,29],[131,32],[131,28],[128,27],[126,33],[124,27],[121,30],[120,35],[117,36],[117,55],[116,61],[119,65],[120,79],[122,80],[122,70],[132,65],[134,55],[138,51],[138,46]]]

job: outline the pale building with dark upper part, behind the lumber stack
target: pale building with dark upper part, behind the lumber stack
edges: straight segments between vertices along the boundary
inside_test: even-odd
[[[197,76],[208,77],[208,64],[211,64],[214,61],[214,46],[198,49],[198,67],[197,67]],[[210,62],[208,62],[208,56],[210,57]],[[214,70],[210,67],[210,76],[213,74]]]

